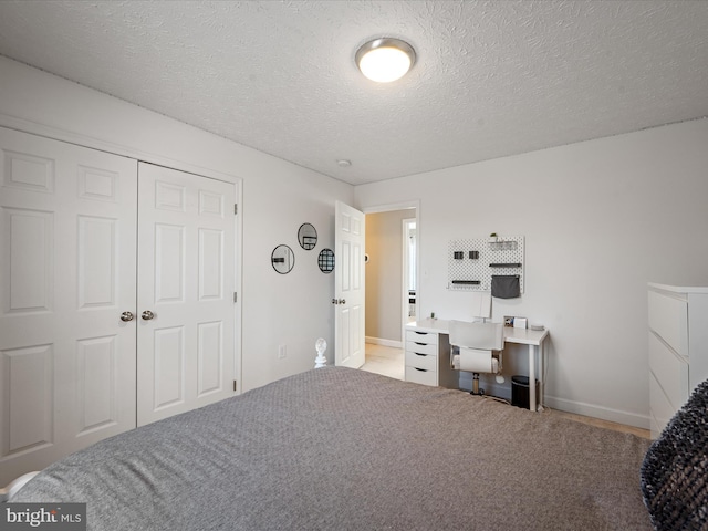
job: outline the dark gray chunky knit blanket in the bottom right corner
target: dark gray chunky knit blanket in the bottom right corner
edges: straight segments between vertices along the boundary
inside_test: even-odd
[[[642,464],[642,493],[657,530],[708,530],[708,381],[701,383]]]

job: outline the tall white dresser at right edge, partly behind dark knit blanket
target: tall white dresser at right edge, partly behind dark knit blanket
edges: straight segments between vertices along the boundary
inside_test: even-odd
[[[649,283],[649,419],[658,437],[708,379],[708,288]]]

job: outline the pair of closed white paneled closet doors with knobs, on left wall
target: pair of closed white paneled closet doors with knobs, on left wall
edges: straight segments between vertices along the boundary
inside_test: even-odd
[[[235,394],[235,201],[0,127],[0,487]]]

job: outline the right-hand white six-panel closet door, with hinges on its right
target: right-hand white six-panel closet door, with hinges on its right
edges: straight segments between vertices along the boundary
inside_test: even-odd
[[[142,426],[233,395],[236,186],[144,163],[138,174]]]

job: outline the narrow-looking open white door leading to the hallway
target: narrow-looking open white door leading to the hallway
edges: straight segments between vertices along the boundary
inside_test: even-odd
[[[358,368],[366,361],[364,344],[365,217],[341,201],[335,205],[334,364]]]

